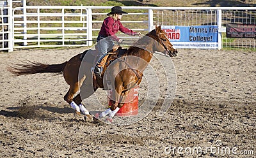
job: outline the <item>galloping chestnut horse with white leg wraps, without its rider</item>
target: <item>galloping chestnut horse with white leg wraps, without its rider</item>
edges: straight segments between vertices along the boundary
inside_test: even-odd
[[[161,26],[156,26],[156,29],[148,32],[148,34],[134,43],[133,46],[129,47],[128,50],[125,50],[125,53],[120,55],[118,59],[111,62],[108,68],[105,66],[103,73],[107,71],[102,74],[102,79],[94,74],[92,76],[91,68],[95,66],[95,55],[93,55],[95,52],[93,51],[95,50],[86,50],[84,53],[78,54],[61,64],[27,62],[25,64],[16,64],[17,67],[10,66],[9,71],[17,76],[63,72],[65,81],[70,85],[67,94],[64,96],[65,101],[76,110],[75,113],[77,115],[80,115],[82,112],[90,119],[92,119],[92,115],[83,106],[82,100],[91,96],[98,88],[106,88],[106,83],[111,83],[110,88],[114,89],[111,99],[113,99],[114,103],[111,108],[100,113],[99,117],[106,117],[108,114],[110,117],[113,117],[123,106],[129,89],[140,84],[143,70],[152,59],[154,52],[163,52],[163,54],[168,54],[170,57],[175,57],[178,53],[166,37],[166,32],[161,29]],[[115,52],[120,52],[120,49],[112,50],[112,55],[109,55],[108,58],[113,58],[116,55]],[[110,76],[110,78],[106,78],[106,76]],[[79,94],[74,97],[79,89]]]

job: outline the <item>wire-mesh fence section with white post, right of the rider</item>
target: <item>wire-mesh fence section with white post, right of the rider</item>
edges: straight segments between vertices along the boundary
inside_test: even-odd
[[[160,25],[218,25],[221,48],[256,50],[255,38],[226,38],[226,24],[256,24],[256,8],[173,8],[157,10],[154,21]],[[220,47],[219,47],[220,48]]]

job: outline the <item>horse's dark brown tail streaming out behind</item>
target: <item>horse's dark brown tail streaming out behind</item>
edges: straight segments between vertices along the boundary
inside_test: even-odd
[[[35,73],[63,73],[63,69],[67,64],[63,62],[61,64],[42,64],[40,62],[24,62],[23,64],[14,64],[8,66],[8,71],[15,76],[30,75]]]

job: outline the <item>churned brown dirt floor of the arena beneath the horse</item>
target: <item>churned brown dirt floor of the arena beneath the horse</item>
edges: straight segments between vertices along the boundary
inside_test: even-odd
[[[0,157],[256,157],[255,52],[179,50],[172,58],[177,89],[170,109],[158,115],[166,90],[160,85],[151,113],[126,126],[75,120],[63,100],[68,85],[62,75],[6,70],[20,60],[58,64],[84,49],[0,54]],[[151,64],[158,69],[157,60]],[[146,83],[140,100],[147,97]],[[107,103],[103,90],[96,96]]]

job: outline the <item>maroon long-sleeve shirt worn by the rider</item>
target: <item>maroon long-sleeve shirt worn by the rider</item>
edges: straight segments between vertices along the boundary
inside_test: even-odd
[[[112,17],[105,18],[101,26],[99,36],[108,37],[111,36],[115,41],[118,41],[119,38],[115,35],[116,32],[121,31],[128,35],[136,35],[137,32],[132,31],[124,27],[120,20],[114,20]]]

